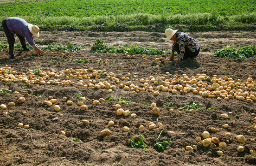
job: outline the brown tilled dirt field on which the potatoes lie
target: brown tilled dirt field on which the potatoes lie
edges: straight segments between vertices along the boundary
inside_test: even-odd
[[[59,81],[66,80],[70,76],[69,85],[39,85],[26,84],[23,82],[5,82],[0,79],[0,88],[12,90],[10,93],[0,92],[0,104],[5,104],[6,109],[1,109],[0,114],[0,165],[1,166],[249,166],[256,165],[256,156],[250,154],[250,149],[256,151],[256,130],[250,128],[256,117],[256,101],[253,103],[237,100],[235,98],[228,101],[216,97],[208,98],[199,94],[193,94],[189,91],[185,94],[177,94],[156,90],[159,85],[148,83],[155,87],[154,91],[159,91],[159,95],[153,92],[132,91],[120,88],[122,83],[128,80],[122,80],[122,77],[129,78],[130,83],[142,88],[142,78],[146,80],[150,76],[156,78],[159,83],[161,77],[165,79],[197,77],[205,74],[211,79],[214,75],[220,77],[237,76],[234,80],[237,83],[246,83],[247,78],[251,77],[256,80],[256,56],[250,59],[238,58],[213,58],[215,50],[226,45],[244,46],[256,45],[255,31],[223,31],[223,32],[202,32],[189,33],[194,37],[200,47],[201,52],[197,59],[192,62],[181,62],[179,68],[175,68],[174,61],[166,61],[168,56],[165,55],[147,55],[147,60],[143,60],[142,54],[130,54],[127,58],[125,54],[117,54],[113,57],[108,53],[90,53],[90,47],[96,39],[105,41],[111,46],[120,46],[122,44],[140,46],[151,46],[159,50],[171,49],[171,42],[164,42],[164,33],[155,32],[40,32],[40,37],[35,41],[41,45],[48,45],[52,42],[57,44],[67,44],[67,42],[83,44],[85,49],[78,52],[69,52],[62,54],[63,51],[51,54],[51,51],[42,56],[38,56],[34,51],[23,52],[15,49],[16,59],[9,59],[8,50],[0,52],[0,75],[4,75],[5,70],[9,70],[7,75],[12,71],[17,71],[15,75],[26,73],[26,69],[32,71],[56,71],[59,78],[49,77],[46,82],[54,79]],[[3,31],[0,32],[0,41],[6,41]],[[19,39],[16,38],[16,42]],[[32,57],[35,57],[32,59]],[[81,64],[73,62],[73,59],[89,59],[91,64]],[[155,61],[159,58],[160,61]],[[68,62],[70,61],[70,63]],[[8,67],[10,68],[8,68]],[[97,89],[94,87],[77,86],[79,81],[76,75],[76,69],[87,69],[91,75],[90,67],[98,71],[99,79],[91,77],[83,78],[83,85],[92,86],[89,82],[108,82],[115,85],[115,90],[108,92],[108,89]],[[2,69],[1,69],[2,68]],[[4,70],[5,69],[5,70]],[[73,69],[73,70],[71,70]],[[66,73],[61,76],[60,71]],[[106,70],[105,72],[103,72]],[[82,71],[81,71],[82,72]],[[166,72],[170,74],[167,76]],[[5,73],[6,74],[6,73]],[[70,75],[72,74],[72,75]],[[83,74],[81,74],[83,75]],[[86,75],[86,74],[84,74]],[[37,78],[43,76],[34,75]],[[33,79],[31,74],[27,74],[28,79]],[[88,76],[87,76],[88,77]],[[112,80],[111,77],[119,81]],[[110,78],[110,79],[109,79]],[[103,80],[104,79],[104,80]],[[136,80],[138,79],[138,80]],[[91,81],[90,81],[91,80]],[[117,82],[116,82],[117,81]],[[56,82],[58,82],[56,80]],[[212,85],[208,81],[204,83]],[[92,82],[93,83],[93,82]],[[197,84],[176,81],[173,85],[182,85],[186,87],[196,87]],[[166,84],[164,85],[166,86]],[[131,87],[130,87],[131,88]],[[175,88],[173,88],[175,89]],[[235,90],[240,89],[233,88]],[[253,94],[256,89],[241,89],[243,93],[248,91]],[[19,94],[14,94],[18,91]],[[213,91],[213,90],[211,90]],[[24,103],[19,103],[19,97],[26,97]],[[80,94],[74,98],[75,94]],[[51,107],[44,104],[49,101],[49,96],[57,99]],[[63,102],[63,97],[67,101],[73,101],[72,105]],[[116,101],[101,102],[93,104],[94,100],[103,98],[109,99],[109,96],[122,97],[131,103],[120,103]],[[85,97],[83,101],[81,97]],[[77,105],[78,101],[83,101],[87,105],[86,110],[81,110]],[[8,106],[9,102],[14,102],[15,106]],[[160,108],[159,114],[153,114],[151,103],[155,102]],[[163,108],[166,102],[173,102],[174,111],[170,112],[170,107]],[[189,110],[179,111],[179,107],[184,107],[192,103],[202,104],[203,109],[195,110],[192,113]],[[136,118],[131,116],[116,115],[117,108],[113,105],[120,104],[123,110],[129,110],[135,113]],[[59,105],[61,110],[56,112],[54,106]],[[23,112],[26,111],[26,114]],[[7,112],[7,114],[5,114]],[[228,119],[221,117],[222,113],[228,114]],[[84,125],[83,119],[90,123]],[[110,120],[115,125],[108,127]],[[162,127],[156,127],[153,130],[148,129],[148,124],[154,122],[162,123]],[[17,127],[19,123],[29,125],[29,129]],[[224,124],[229,128],[225,129]],[[139,130],[139,126],[144,128]],[[123,131],[123,127],[128,126],[129,132]],[[101,130],[109,129],[111,133],[108,136],[101,136]],[[211,128],[219,129],[219,132],[212,132]],[[65,136],[60,131],[65,131]],[[161,135],[160,132],[162,131]],[[173,131],[173,132],[170,132]],[[217,137],[219,142],[225,142],[226,150],[220,148],[215,143],[215,150],[210,147],[204,147],[201,142],[195,138],[200,136],[203,140],[202,133],[209,131],[210,137]],[[225,136],[229,132],[231,136]],[[243,135],[246,137],[246,143],[238,143],[236,136]],[[135,135],[143,135],[148,146],[153,146],[156,142],[171,141],[165,151],[149,147],[148,149],[131,148],[128,145],[128,139]],[[160,138],[157,140],[158,136]],[[75,141],[74,141],[75,140]],[[81,142],[80,142],[80,141]],[[76,142],[77,141],[77,142]],[[186,146],[197,146],[197,150],[186,151]],[[244,152],[238,153],[237,147],[242,145]],[[217,151],[222,150],[223,154],[218,156]]]

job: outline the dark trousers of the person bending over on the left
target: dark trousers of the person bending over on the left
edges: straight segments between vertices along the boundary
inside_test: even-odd
[[[10,32],[10,30],[7,28],[7,24],[6,24],[6,19],[4,19],[4,21],[2,22],[2,26],[3,29],[5,31],[6,37],[7,37],[7,41],[9,44],[9,55],[11,55],[11,57],[13,57],[13,51],[14,51],[14,43],[15,43],[15,38],[14,35]],[[26,47],[26,40],[24,36],[21,36],[19,34],[16,34],[19,37],[19,41],[21,43],[21,46],[24,50],[28,50]]]

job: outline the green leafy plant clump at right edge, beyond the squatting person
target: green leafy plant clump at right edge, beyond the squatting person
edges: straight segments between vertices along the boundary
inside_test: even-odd
[[[213,57],[237,57],[237,58],[250,58],[252,55],[256,53],[256,46],[243,46],[243,47],[235,47],[235,46],[226,46],[222,49],[219,49],[214,53]]]

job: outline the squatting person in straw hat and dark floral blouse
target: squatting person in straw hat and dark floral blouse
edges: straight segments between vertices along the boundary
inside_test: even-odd
[[[166,41],[172,40],[173,48],[170,60],[173,60],[174,52],[176,51],[179,56],[175,64],[175,67],[179,67],[179,62],[185,59],[194,59],[198,56],[200,47],[191,36],[184,32],[178,32],[178,30],[166,29]]]

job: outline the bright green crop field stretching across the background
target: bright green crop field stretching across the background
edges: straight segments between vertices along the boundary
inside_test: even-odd
[[[147,25],[153,24],[164,24],[162,28],[177,24],[196,26],[193,30],[216,30],[219,25],[239,29],[242,24],[255,25],[255,11],[253,0],[0,1],[0,19],[21,17],[43,29],[56,30],[72,26],[79,30],[123,31],[123,27],[115,26],[123,24],[130,30],[151,30]]]

